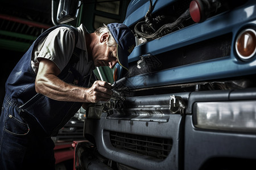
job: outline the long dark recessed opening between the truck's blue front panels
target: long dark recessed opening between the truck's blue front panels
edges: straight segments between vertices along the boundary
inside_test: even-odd
[[[183,46],[178,49],[170,50],[164,53],[156,54],[145,59],[145,66],[141,69],[137,67],[137,61],[129,64],[129,76],[138,74],[152,73],[174,67],[190,65],[230,56],[232,45],[232,33],[214,37]]]

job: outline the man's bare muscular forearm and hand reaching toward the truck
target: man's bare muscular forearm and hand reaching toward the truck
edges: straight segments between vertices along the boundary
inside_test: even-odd
[[[35,80],[35,90],[39,94],[59,101],[78,101],[97,103],[108,101],[112,95],[111,86],[103,81],[96,81],[90,88],[78,87],[63,82],[57,77],[59,68],[49,59],[41,59]]]

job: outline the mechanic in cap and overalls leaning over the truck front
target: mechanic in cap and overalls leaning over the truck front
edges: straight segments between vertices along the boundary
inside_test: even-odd
[[[111,23],[88,33],[57,25],[34,41],[6,82],[0,117],[0,169],[55,169],[51,137],[82,104],[108,101],[112,86],[95,67],[127,69],[135,46],[130,29]],[[83,105],[83,107],[85,107]]]

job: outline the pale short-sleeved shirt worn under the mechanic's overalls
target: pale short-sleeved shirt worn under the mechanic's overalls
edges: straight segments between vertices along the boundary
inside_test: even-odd
[[[76,47],[80,48],[82,53],[80,53],[79,62],[75,63],[74,67],[82,76],[86,76],[94,69],[93,61],[89,61],[86,49],[85,33],[88,31],[82,24],[77,29],[79,36]],[[47,58],[62,71],[72,56],[74,46],[75,33],[71,29],[67,27],[54,29],[34,47],[31,58],[32,69],[37,74],[40,58]]]

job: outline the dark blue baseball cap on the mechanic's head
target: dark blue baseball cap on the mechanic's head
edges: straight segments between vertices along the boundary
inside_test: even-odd
[[[129,70],[128,56],[136,45],[133,32],[125,24],[121,23],[111,23],[107,27],[114,37],[115,42],[117,42],[117,59],[119,65]]]

